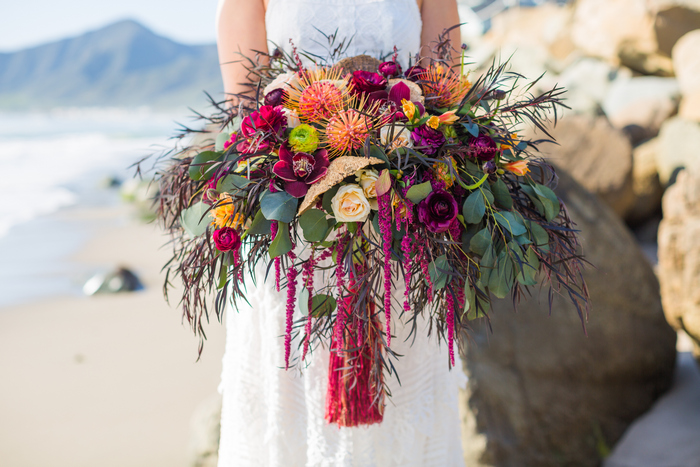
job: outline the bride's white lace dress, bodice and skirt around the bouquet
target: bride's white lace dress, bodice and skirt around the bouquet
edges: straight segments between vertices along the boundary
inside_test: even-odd
[[[293,38],[300,50],[323,56],[324,38],[315,28],[337,29],[338,37],[353,36],[349,55],[378,56],[396,45],[405,66],[420,45],[421,18],[414,0],[271,0],[266,26],[268,39],[285,50]],[[317,275],[315,283],[322,280]],[[228,310],[219,467],[464,465],[457,395],[466,380],[459,362],[449,371],[444,343],[428,338],[426,329],[404,342],[408,329],[395,317],[392,348],[403,355],[396,362],[401,385],[388,379],[392,397],[384,421],[329,425],[328,349],[316,348],[301,370],[284,370],[286,295],[272,282],[247,281],[251,306]],[[394,296],[402,302],[403,289]]]

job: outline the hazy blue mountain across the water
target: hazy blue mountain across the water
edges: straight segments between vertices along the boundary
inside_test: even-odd
[[[202,103],[221,97],[215,45],[190,46],[125,20],[82,36],[0,53],[0,108]]]

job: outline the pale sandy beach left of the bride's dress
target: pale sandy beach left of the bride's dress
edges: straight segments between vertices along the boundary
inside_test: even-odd
[[[223,326],[211,323],[196,362],[176,297],[169,306],[161,294],[165,238],[128,207],[58,215],[93,224],[70,258],[79,269],[124,265],[145,290],[0,308],[0,465],[188,465],[192,413],[216,394]]]

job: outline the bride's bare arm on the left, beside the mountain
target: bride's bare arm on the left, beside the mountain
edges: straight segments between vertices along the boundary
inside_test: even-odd
[[[254,58],[253,50],[267,52],[264,0],[220,0],[217,19],[219,64],[224,79],[224,92],[236,94],[247,88],[247,72],[239,52]]]

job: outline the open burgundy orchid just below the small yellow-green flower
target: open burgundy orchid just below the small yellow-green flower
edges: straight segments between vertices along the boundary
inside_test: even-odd
[[[303,198],[309,191],[309,185],[316,183],[328,172],[328,152],[325,149],[316,154],[292,152],[287,144],[280,147],[280,160],[275,163],[272,172],[285,181],[284,191],[295,198]]]

